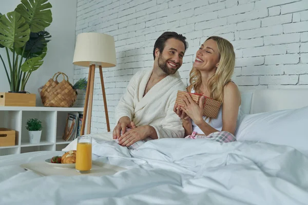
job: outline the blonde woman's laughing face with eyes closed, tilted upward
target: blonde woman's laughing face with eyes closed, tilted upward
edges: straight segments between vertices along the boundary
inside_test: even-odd
[[[217,43],[213,39],[206,40],[196,53],[196,59],[192,65],[200,71],[212,71],[217,69],[220,54]]]

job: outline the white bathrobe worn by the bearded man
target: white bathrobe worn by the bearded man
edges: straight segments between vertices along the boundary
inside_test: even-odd
[[[173,111],[178,90],[186,91],[179,72],[163,78],[143,96],[151,73],[142,70],[130,79],[115,108],[115,121],[128,116],[136,126],[152,126],[158,138],[184,137],[182,120]]]

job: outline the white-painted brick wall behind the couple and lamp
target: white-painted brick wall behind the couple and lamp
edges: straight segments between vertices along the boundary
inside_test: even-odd
[[[117,67],[104,69],[111,129],[115,106],[132,75],[151,69],[152,49],[164,31],[187,37],[180,74],[185,84],[195,53],[210,35],[235,48],[233,76],[240,90],[308,88],[307,0],[78,0],[76,34],[114,36]],[[88,76],[75,67],[74,79]],[[105,132],[99,72],[95,73],[92,132]],[[83,104],[80,93],[77,104]]]

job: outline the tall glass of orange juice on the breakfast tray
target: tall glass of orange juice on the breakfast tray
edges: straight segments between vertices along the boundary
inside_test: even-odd
[[[76,171],[85,174],[90,173],[92,168],[92,137],[79,136],[77,139]]]

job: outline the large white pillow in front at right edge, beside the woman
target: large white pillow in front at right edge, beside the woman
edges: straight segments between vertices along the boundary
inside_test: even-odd
[[[291,146],[308,155],[308,106],[245,115],[235,133],[238,141]]]

